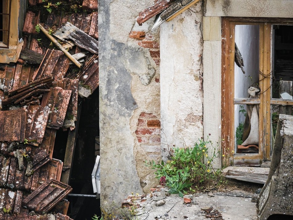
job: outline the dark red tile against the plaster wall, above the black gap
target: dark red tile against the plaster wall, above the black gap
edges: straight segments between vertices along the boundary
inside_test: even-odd
[[[93,93],[99,86],[99,56],[94,55],[91,59],[85,64],[84,68],[80,70],[77,75],[77,78],[80,81],[80,86],[89,87],[90,93]],[[82,90],[78,90],[79,94],[88,97],[89,95],[85,95],[81,93]]]

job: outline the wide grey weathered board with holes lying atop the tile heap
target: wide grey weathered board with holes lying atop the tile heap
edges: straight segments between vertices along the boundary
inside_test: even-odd
[[[53,35],[63,41],[70,39],[80,48],[88,50],[94,54],[98,54],[99,52],[98,41],[86,34],[84,31],[75,27],[72,23],[65,23],[62,27],[55,31]]]

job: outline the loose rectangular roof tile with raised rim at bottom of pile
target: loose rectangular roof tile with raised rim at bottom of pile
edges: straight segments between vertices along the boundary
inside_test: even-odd
[[[56,180],[47,180],[23,200],[23,204],[35,212],[50,211],[59,201],[72,191],[69,185]]]

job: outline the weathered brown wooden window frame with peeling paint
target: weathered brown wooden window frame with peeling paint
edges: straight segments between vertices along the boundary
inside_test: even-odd
[[[271,27],[273,24],[291,25],[293,19],[280,18],[236,18],[222,17],[222,116],[221,137],[222,142],[222,166],[250,165],[259,166],[263,161],[270,160],[271,153],[271,104],[293,105],[292,100],[279,100],[271,98],[271,79],[259,75],[259,98],[234,98],[234,54],[235,54],[235,25],[259,25],[259,70],[263,75],[271,73]],[[259,153],[234,154],[234,104],[259,104]]]

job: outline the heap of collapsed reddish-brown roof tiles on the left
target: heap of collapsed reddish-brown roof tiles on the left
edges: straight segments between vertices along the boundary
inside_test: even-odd
[[[30,5],[40,3],[29,0]],[[84,0],[82,6],[97,10],[97,1]],[[72,188],[60,182],[63,162],[52,158],[56,130],[75,129],[79,94],[88,97],[99,85],[98,55],[64,39],[64,47],[81,54],[76,57],[84,62],[80,71],[69,71],[74,64],[63,52],[43,48],[32,37],[39,17],[27,11],[19,62],[0,68],[0,219],[29,210],[54,211],[56,219],[70,219],[64,197]],[[97,12],[52,13],[44,27],[70,21],[97,41],[97,19]],[[27,58],[31,56],[36,59]]]

